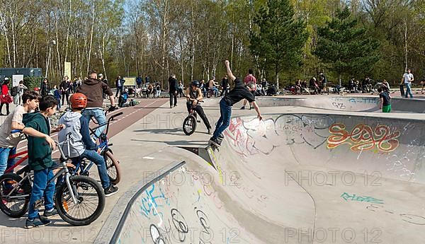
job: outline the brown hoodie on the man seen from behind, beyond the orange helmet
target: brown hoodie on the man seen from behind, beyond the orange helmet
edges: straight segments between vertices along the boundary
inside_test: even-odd
[[[87,79],[77,88],[77,93],[83,93],[87,97],[86,108],[102,108],[103,93],[113,95],[111,88],[98,79]]]

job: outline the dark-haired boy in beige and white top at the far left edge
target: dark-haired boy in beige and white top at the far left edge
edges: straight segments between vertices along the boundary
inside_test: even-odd
[[[23,115],[38,108],[38,100],[40,98],[40,95],[38,95],[35,91],[27,91],[26,93],[23,93],[23,105],[16,106],[16,108],[6,117],[3,124],[1,124],[0,175],[4,174],[6,168],[10,168],[15,164],[15,160],[13,158],[8,159],[8,157],[16,153],[16,146],[18,146],[19,141],[21,141],[21,134],[11,134],[11,131],[23,129]]]

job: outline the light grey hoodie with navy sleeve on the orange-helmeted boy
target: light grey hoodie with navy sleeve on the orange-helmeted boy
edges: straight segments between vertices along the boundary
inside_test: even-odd
[[[85,150],[97,150],[96,144],[90,138],[89,122],[87,122],[86,118],[80,112],[65,112],[60,117],[59,124],[65,125],[65,129],[62,129],[57,134],[65,156],[77,158]],[[71,143],[69,144],[68,151],[67,134],[69,133],[71,133]]]

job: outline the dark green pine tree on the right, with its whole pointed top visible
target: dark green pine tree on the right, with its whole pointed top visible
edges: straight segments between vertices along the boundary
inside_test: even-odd
[[[341,76],[368,75],[380,59],[379,42],[368,36],[348,8],[339,9],[336,16],[317,32],[319,37],[314,54],[338,75],[340,86]]]

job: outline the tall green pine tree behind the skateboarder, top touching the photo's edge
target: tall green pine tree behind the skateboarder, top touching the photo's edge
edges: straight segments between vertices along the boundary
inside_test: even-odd
[[[302,48],[307,41],[306,24],[294,16],[289,0],[266,0],[256,11],[249,49],[266,70],[276,75],[302,64]]]

